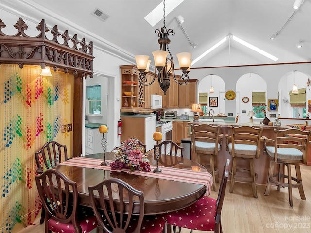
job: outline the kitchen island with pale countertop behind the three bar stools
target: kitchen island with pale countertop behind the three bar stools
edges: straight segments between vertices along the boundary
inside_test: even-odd
[[[281,125],[281,126],[267,126],[264,124],[256,124],[256,123],[229,123],[229,122],[194,122],[190,121],[188,124],[210,124],[210,125],[218,125],[220,126],[220,133],[224,134],[222,146],[218,153],[217,157],[217,168],[219,170],[219,175],[223,174],[224,169],[224,163],[227,159],[230,159],[230,163],[232,163],[232,157],[229,154],[229,151],[226,151],[226,138],[225,134],[231,134],[230,133],[230,126],[253,126],[253,127],[262,127],[262,136],[266,136],[268,138],[274,137],[274,129],[287,129],[291,128],[287,125]],[[191,147],[192,148],[192,147]],[[196,157],[192,154],[192,160],[196,161]],[[263,154],[263,141],[261,143],[260,147],[260,158],[254,159],[254,165],[255,165],[255,172],[258,174],[258,180],[256,181],[257,184],[266,184],[267,178],[268,178],[268,171],[269,171],[269,156]],[[201,164],[209,164],[209,157],[208,156],[202,156],[201,158]],[[231,164],[232,166],[232,164]],[[249,165],[246,161],[241,160],[239,162],[239,167],[249,169]],[[219,177],[221,178],[221,177]],[[236,191],[237,192],[237,191]]]

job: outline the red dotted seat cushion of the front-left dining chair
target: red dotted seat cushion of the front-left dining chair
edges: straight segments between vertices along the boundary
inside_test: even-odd
[[[81,226],[82,233],[91,232],[98,226],[94,212],[89,208],[80,208],[77,210],[78,222]],[[49,229],[56,233],[74,233],[74,227],[71,222],[61,223],[53,218],[48,220]]]

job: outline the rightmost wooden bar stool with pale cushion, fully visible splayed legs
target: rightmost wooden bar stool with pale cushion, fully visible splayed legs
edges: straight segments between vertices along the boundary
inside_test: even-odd
[[[293,206],[292,188],[298,188],[301,199],[306,200],[302,186],[300,163],[307,164],[306,155],[309,140],[310,131],[294,128],[274,129],[274,139],[264,137],[265,153],[270,157],[269,175],[264,195],[269,195],[271,185],[276,184],[278,191],[280,191],[281,186],[288,187],[290,206]],[[275,165],[279,165],[276,174],[274,174]],[[284,165],[287,166],[287,175],[284,172]],[[292,177],[291,165],[295,166],[296,177]],[[284,182],[284,178],[286,178],[287,183]]]

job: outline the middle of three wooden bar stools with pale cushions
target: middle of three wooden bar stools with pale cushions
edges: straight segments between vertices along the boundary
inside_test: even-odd
[[[227,150],[233,158],[229,193],[232,193],[235,181],[252,183],[253,196],[257,198],[256,180],[253,159],[260,157],[262,127],[230,126],[231,135],[226,134]],[[246,160],[250,169],[237,168],[238,161]]]

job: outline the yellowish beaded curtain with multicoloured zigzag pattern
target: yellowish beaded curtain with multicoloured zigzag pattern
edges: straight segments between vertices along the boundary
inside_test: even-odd
[[[35,184],[35,151],[47,141],[67,145],[72,154],[73,75],[40,76],[32,66],[0,66],[0,232],[13,233],[41,215]],[[13,230],[14,229],[14,230]]]

